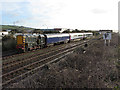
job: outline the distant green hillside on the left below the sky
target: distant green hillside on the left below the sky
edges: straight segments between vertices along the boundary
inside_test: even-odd
[[[34,28],[29,28],[24,26],[14,26],[14,25],[0,25],[0,27],[2,27],[2,31],[12,30],[15,32],[22,32],[22,31],[30,32],[34,30]]]

